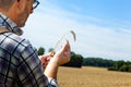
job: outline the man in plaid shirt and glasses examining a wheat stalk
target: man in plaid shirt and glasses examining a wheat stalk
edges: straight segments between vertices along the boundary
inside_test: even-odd
[[[0,87],[58,87],[58,67],[70,61],[69,42],[52,57],[40,55],[40,61],[29,41],[20,37],[20,27],[38,4],[36,0],[0,0]]]

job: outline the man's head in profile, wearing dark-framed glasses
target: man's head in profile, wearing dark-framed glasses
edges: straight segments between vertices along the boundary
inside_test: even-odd
[[[36,0],[0,0],[0,12],[23,27],[33,10],[39,4]]]

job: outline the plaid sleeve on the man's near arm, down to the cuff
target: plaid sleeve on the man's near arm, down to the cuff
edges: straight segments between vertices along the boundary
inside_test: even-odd
[[[23,50],[17,74],[22,87],[58,87],[56,79],[45,76],[37,51],[32,46]]]

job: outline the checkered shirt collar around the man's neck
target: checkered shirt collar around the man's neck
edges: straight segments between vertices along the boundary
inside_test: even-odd
[[[9,32],[19,36],[23,34],[23,30],[13,21],[2,13],[0,13],[0,27],[7,28]]]

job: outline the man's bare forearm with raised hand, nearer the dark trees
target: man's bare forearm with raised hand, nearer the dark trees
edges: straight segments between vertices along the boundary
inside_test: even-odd
[[[50,59],[47,67],[45,69],[45,75],[49,78],[57,79],[57,72],[58,67],[61,64],[64,64],[70,61],[70,45],[67,41],[67,44],[63,45],[63,47],[56,52],[53,58]]]

